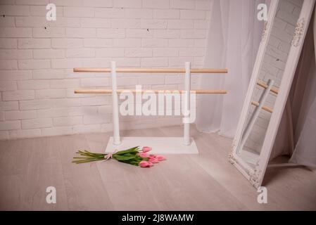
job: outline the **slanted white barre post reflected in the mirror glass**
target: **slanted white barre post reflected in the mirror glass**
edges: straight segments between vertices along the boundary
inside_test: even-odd
[[[251,130],[253,129],[253,125],[255,124],[255,120],[257,120],[257,118],[258,118],[259,113],[260,113],[261,109],[263,108],[265,101],[267,100],[267,96],[269,95],[273,84],[274,84],[274,80],[269,79],[267,82],[267,88],[265,90],[263,90],[263,94],[260,97],[259,105],[253,111],[253,115],[251,115],[251,118],[250,118],[248,124],[246,125],[246,128],[244,129],[244,135],[241,138],[241,144],[240,144],[240,148],[239,148],[240,150],[242,150],[244,148],[246,140],[248,139],[248,136],[250,135]]]

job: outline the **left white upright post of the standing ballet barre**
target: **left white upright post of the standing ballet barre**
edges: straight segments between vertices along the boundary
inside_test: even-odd
[[[115,61],[110,62],[110,75],[112,79],[112,116],[113,116],[113,144],[120,145],[120,126],[118,123],[118,94],[116,92],[116,65]]]

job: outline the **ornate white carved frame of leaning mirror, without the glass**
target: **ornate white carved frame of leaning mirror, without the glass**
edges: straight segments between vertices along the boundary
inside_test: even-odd
[[[303,42],[305,39],[305,34],[310,23],[310,18],[315,6],[315,0],[303,0],[303,6],[301,8],[301,13],[298,17],[295,34],[291,41],[291,48],[289,51],[289,56],[286,61],[282,82],[279,86],[277,98],[274,102],[274,108],[270,112],[272,113],[270,117],[270,122],[267,126],[265,133],[265,138],[263,140],[263,145],[260,150],[260,155],[255,162],[254,167],[248,165],[243,158],[238,153],[238,148],[241,143],[241,139],[244,133],[244,127],[247,121],[248,110],[251,107],[253,91],[255,86],[258,84],[258,76],[260,72],[261,65],[263,63],[263,58],[265,56],[265,50],[267,49],[268,40],[270,39],[270,34],[272,31],[272,25],[274,23],[274,18],[277,13],[277,6],[279,1],[282,0],[272,0],[270,4],[270,9],[268,13],[268,19],[265,23],[265,29],[263,31],[263,38],[260,43],[257,58],[255,60],[255,65],[253,67],[253,73],[251,76],[251,81],[249,83],[248,91],[244,101],[243,109],[241,110],[241,117],[239,118],[238,127],[236,130],[236,135],[232,143],[232,152],[229,154],[229,162],[232,163],[239,171],[251,182],[251,184],[258,188],[263,182],[263,177],[265,175],[265,170],[267,169],[268,162],[270,160],[270,155],[274,145],[274,140],[277,136],[277,131],[279,129],[279,124],[284,113],[284,108],[286,106],[286,101],[289,96],[289,91],[291,89],[291,84],[293,81],[293,76],[296,72],[296,67],[298,60],[301,55],[301,50],[303,47]]]

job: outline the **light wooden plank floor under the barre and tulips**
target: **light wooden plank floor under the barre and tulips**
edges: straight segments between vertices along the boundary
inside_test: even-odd
[[[123,132],[181,136],[182,127]],[[0,141],[0,210],[316,210],[316,174],[269,169],[268,203],[227,160],[231,141],[192,129],[199,155],[166,155],[151,169],[116,161],[75,165],[76,150],[101,152],[110,134]],[[46,203],[55,186],[57,203]]]

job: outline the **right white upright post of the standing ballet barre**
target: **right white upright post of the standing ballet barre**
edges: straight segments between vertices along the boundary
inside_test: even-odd
[[[185,78],[184,78],[184,88],[185,88],[185,99],[184,99],[184,145],[189,146],[190,141],[190,91],[191,91],[191,63],[185,63]]]

